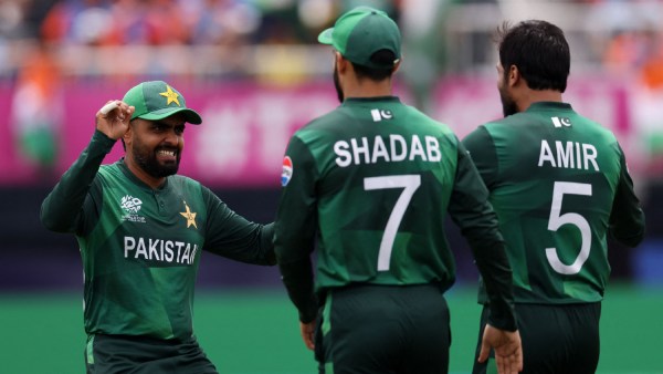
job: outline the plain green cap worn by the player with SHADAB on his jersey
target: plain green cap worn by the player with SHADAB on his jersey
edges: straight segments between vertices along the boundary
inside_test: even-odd
[[[373,69],[393,67],[401,58],[398,25],[383,11],[369,7],[358,7],[340,15],[333,28],[320,32],[318,42],[333,45],[356,64]],[[370,61],[380,50],[393,52],[396,60],[390,64]]]

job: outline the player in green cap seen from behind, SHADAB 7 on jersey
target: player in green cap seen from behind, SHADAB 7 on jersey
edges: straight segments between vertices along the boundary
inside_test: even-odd
[[[501,373],[516,373],[522,355],[511,269],[487,190],[450,128],[392,95],[398,25],[360,7],[318,41],[335,49],[341,105],[290,141],[274,241],[319,372],[448,372],[443,294],[455,277],[444,233],[449,212],[471,243],[491,299],[481,360],[493,347]]]

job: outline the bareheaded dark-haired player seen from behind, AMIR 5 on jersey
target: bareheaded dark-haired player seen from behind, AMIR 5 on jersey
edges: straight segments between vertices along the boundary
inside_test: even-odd
[[[506,241],[524,373],[594,373],[607,236],[636,246],[644,215],[614,135],[562,102],[570,70],[564,32],[546,21],[504,24],[498,50],[505,118],[463,144]],[[486,304],[482,329],[488,312]],[[475,362],[474,373],[491,365]]]

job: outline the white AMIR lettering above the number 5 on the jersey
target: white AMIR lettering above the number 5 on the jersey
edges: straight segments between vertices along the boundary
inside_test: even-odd
[[[555,150],[552,150],[555,149]],[[538,166],[549,165],[552,167],[562,167],[569,169],[589,170],[589,166],[599,172],[597,148],[587,143],[556,141],[550,147],[547,141],[541,141]]]

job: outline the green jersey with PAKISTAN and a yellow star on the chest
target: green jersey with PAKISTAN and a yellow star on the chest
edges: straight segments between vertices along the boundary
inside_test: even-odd
[[[123,160],[101,166],[114,144],[95,132],[44,200],[42,221],[76,235],[88,334],[189,339],[202,251],[273,264],[272,226],[249,222],[190,178],[152,189]]]

